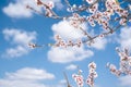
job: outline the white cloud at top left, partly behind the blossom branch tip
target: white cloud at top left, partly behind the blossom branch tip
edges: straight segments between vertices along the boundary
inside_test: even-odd
[[[53,1],[58,8],[62,8],[60,0],[51,0],[51,1]],[[15,2],[10,2],[9,5],[4,7],[2,11],[10,17],[15,17],[15,18],[31,17],[33,15],[33,12],[26,9],[27,4],[37,11],[41,12],[43,10],[33,0],[15,0]]]

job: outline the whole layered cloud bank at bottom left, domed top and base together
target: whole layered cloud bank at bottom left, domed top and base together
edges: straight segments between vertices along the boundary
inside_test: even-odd
[[[45,70],[24,67],[14,73],[5,73],[0,87],[48,87],[41,80],[53,79],[55,75]]]

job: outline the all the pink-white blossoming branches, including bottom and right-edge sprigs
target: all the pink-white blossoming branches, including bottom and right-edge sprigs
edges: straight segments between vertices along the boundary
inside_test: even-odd
[[[43,16],[67,21],[71,26],[76,28],[75,30],[82,30],[83,37],[76,40],[66,40],[60,35],[55,36],[55,44],[48,44],[47,46],[53,47],[81,47],[83,44],[91,46],[95,42],[96,38],[104,38],[108,35],[120,29],[121,26],[126,26],[131,22],[131,0],[83,0],[82,4],[71,4],[70,0],[64,0],[67,4],[67,15],[59,15],[55,12],[55,3],[51,1],[43,2],[41,0],[35,0],[36,4],[44,8],[44,12],[39,12],[32,8],[32,5],[26,5],[27,9],[39,13]],[[128,3],[124,5],[124,3]],[[100,5],[103,3],[104,5]],[[87,23],[91,27],[103,27],[103,32],[97,34],[90,34],[83,24]],[[98,30],[98,29],[94,29]],[[43,46],[37,46],[35,44],[28,45],[31,48],[37,48]],[[117,69],[114,64],[107,63],[107,67],[110,72],[117,76],[122,74],[131,75],[131,57],[128,54],[128,50],[120,51],[116,49],[120,57],[120,67]],[[79,74],[73,74],[72,77],[75,80],[78,87],[83,87],[86,83],[90,87],[94,87],[94,79],[97,77],[96,64],[94,62],[88,64],[90,74],[85,80],[82,76],[82,71],[79,70]],[[68,85],[68,87],[71,87]]]

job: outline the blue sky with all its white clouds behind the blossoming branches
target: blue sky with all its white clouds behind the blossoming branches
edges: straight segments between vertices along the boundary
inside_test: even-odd
[[[52,1],[57,13],[64,14],[63,1]],[[81,0],[71,0],[71,3],[73,2],[79,4]],[[64,39],[69,37],[76,39],[81,37],[81,32],[76,32],[66,21],[44,17],[26,10],[24,8],[26,3],[41,11],[34,0],[1,0],[0,3],[0,87],[66,87],[63,71],[67,72],[73,87],[76,87],[72,79],[72,74],[78,72],[76,65],[86,78],[87,65],[92,61],[97,64],[98,77],[95,87],[131,87],[131,83],[127,84],[127,80],[131,80],[130,76],[116,77],[106,69],[107,62],[119,67],[116,47],[131,49],[130,23],[109,37],[97,39],[91,47],[61,49],[46,46],[29,49],[28,42],[38,45],[55,42],[56,34]],[[83,26],[87,30],[88,28],[102,30],[102,27],[91,27],[87,24]]]

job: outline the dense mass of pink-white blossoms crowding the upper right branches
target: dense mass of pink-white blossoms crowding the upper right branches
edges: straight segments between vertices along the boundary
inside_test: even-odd
[[[109,29],[108,23],[110,21],[111,15],[114,15],[115,13],[117,13],[119,15],[119,17],[121,17],[119,21],[120,25],[124,25],[128,22],[128,20],[127,20],[128,15],[129,15],[128,10],[122,9],[117,0],[106,0],[106,2],[105,2],[106,11],[99,11],[98,2],[95,2],[95,0],[86,0],[86,2],[90,4],[92,3],[92,7],[87,8],[87,12],[92,13],[92,14],[90,16],[80,16],[79,15],[79,17],[81,17],[83,21],[88,22],[91,24],[91,26],[95,26],[97,23],[97,24],[102,25],[105,29]],[[73,10],[73,12],[75,12],[76,9],[78,9],[78,11],[81,11],[85,8],[86,7],[82,7],[82,5],[78,8],[76,4],[73,4],[71,10]],[[69,9],[68,9],[68,11],[69,11]],[[71,16],[71,17],[75,18],[75,16]],[[80,23],[82,23],[82,22],[78,22],[78,20],[74,20],[73,23],[75,24],[75,26],[79,26]]]

